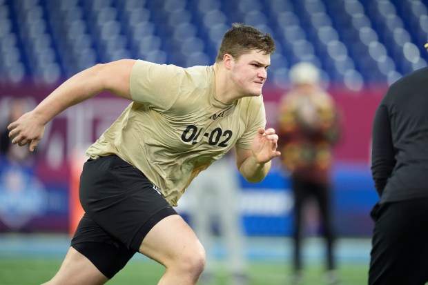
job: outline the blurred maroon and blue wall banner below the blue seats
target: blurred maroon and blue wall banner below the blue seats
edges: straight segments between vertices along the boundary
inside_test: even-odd
[[[55,86],[0,86],[1,128],[8,124],[10,99],[28,97],[35,105],[54,89]],[[371,120],[383,94],[342,93],[333,94],[344,114],[344,137],[335,151],[337,166],[333,171],[335,223],[340,235],[371,235],[369,211],[377,200],[368,166]],[[280,92],[271,90],[265,94],[268,125],[274,126]],[[18,171],[2,162],[0,232],[72,232],[82,214],[76,211],[78,175],[71,174],[75,150],[82,150],[84,157],[83,150],[128,104],[106,93],[73,106],[46,126],[30,170]],[[260,184],[248,184],[242,179],[239,204],[248,235],[291,234],[293,197],[288,183],[286,174],[275,165]],[[184,198],[180,203],[184,204],[185,216]]]

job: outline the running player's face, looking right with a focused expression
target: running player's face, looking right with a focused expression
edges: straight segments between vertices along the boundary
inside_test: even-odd
[[[259,96],[267,78],[267,68],[271,64],[271,55],[251,50],[239,59],[232,59],[231,77],[238,92],[243,96]]]

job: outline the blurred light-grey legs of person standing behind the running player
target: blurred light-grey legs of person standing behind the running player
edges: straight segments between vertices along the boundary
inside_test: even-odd
[[[241,186],[237,173],[231,171],[234,160],[235,155],[229,152],[195,177],[187,190],[193,193],[194,198],[190,210],[191,226],[207,252],[202,285],[218,284],[213,254],[216,238],[213,224],[217,225],[225,248],[228,284],[249,284],[244,255],[244,229],[240,204],[237,203]]]

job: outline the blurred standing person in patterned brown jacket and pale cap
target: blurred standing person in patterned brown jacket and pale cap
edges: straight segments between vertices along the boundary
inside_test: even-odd
[[[292,282],[302,283],[304,206],[315,199],[327,246],[326,279],[329,284],[338,284],[330,181],[331,150],[340,135],[338,110],[331,95],[320,87],[320,71],[311,63],[297,63],[290,69],[289,79],[292,88],[280,101],[278,136],[282,166],[290,174],[295,199]]]

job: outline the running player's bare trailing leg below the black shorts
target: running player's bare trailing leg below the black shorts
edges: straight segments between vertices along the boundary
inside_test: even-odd
[[[70,247],[57,274],[46,285],[98,285],[104,284],[104,276],[92,262],[74,248]]]

